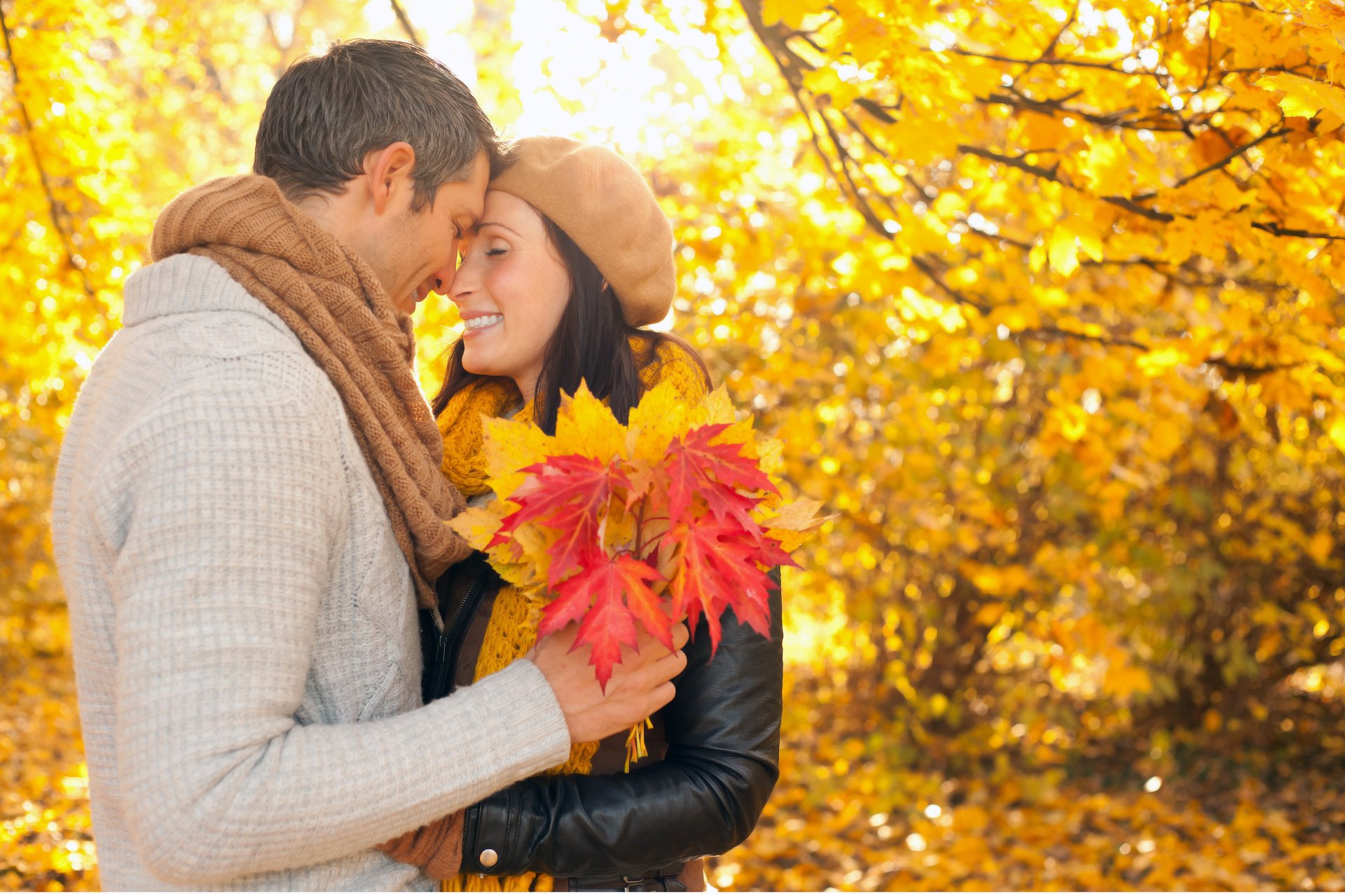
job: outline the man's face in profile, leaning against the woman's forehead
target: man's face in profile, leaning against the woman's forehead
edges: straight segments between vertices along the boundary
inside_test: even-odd
[[[377,266],[383,268],[383,285],[404,313],[414,312],[430,292],[447,293],[457,266],[457,241],[482,219],[490,177],[490,161],[480,152],[471,176],[441,186],[432,207],[412,211],[408,202],[395,216],[383,241],[387,261]]]

